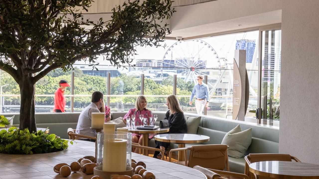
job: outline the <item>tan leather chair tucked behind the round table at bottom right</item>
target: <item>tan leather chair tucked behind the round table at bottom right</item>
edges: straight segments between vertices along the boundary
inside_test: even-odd
[[[289,154],[249,154],[245,156],[245,174],[249,176],[249,178],[268,178],[264,176],[258,176],[256,174],[251,175],[249,172],[249,165],[258,161],[296,161],[301,162],[296,157],[293,157]],[[254,177],[255,176],[255,177]]]

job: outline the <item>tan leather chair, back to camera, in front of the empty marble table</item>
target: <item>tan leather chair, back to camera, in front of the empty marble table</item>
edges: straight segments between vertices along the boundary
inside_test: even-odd
[[[185,161],[176,161],[174,163],[190,168],[199,165],[204,168],[213,168],[217,170],[225,170],[226,165],[226,171],[229,171],[228,148],[229,147],[226,144],[217,144],[171,149],[169,151],[168,161],[171,162],[172,153],[174,151],[184,150]],[[187,160],[187,150],[190,150],[189,160]]]

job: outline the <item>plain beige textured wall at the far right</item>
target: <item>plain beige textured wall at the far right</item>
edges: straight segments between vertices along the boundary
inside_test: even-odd
[[[279,152],[319,164],[319,1],[284,0]]]

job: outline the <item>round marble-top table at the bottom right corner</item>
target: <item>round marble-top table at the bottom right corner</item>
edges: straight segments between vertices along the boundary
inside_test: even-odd
[[[261,176],[280,179],[319,178],[319,165],[294,161],[260,161],[251,163],[249,171]]]

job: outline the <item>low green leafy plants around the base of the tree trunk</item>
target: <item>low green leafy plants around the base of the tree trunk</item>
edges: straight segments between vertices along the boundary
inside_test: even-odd
[[[11,127],[0,131],[0,153],[4,154],[42,154],[58,152],[69,147],[68,140],[46,134],[41,130],[30,133],[28,129]],[[73,141],[70,141],[73,144]]]

